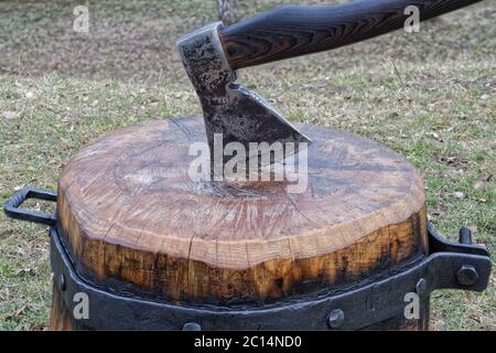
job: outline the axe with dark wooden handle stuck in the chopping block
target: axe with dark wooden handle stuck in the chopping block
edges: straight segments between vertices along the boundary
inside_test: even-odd
[[[229,26],[215,22],[184,35],[176,43],[177,50],[202,104],[211,160],[215,133],[223,135],[223,147],[240,142],[247,150],[250,142],[293,142],[295,152],[301,142],[310,142],[260,95],[237,84],[236,69],[401,29],[412,14],[409,9],[417,8],[422,21],[477,1],[362,0],[337,6],[284,6]]]

